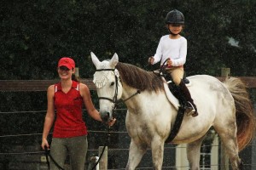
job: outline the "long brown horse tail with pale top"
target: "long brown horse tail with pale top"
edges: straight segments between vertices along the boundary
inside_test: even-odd
[[[239,150],[242,150],[252,141],[255,133],[256,119],[253,105],[247,93],[247,87],[241,79],[230,77],[224,84],[235,99],[237,143]]]

